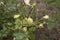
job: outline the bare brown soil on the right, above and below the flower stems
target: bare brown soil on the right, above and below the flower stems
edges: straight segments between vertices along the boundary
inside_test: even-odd
[[[50,6],[44,2],[44,0],[35,0],[37,3],[37,8],[40,9],[38,17],[41,17],[45,14],[54,16],[58,9],[54,6]],[[35,30],[35,40],[60,40],[60,33],[58,31],[59,24],[55,22],[55,27],[52,30],[49,30],[47,25],[44,28]]]

